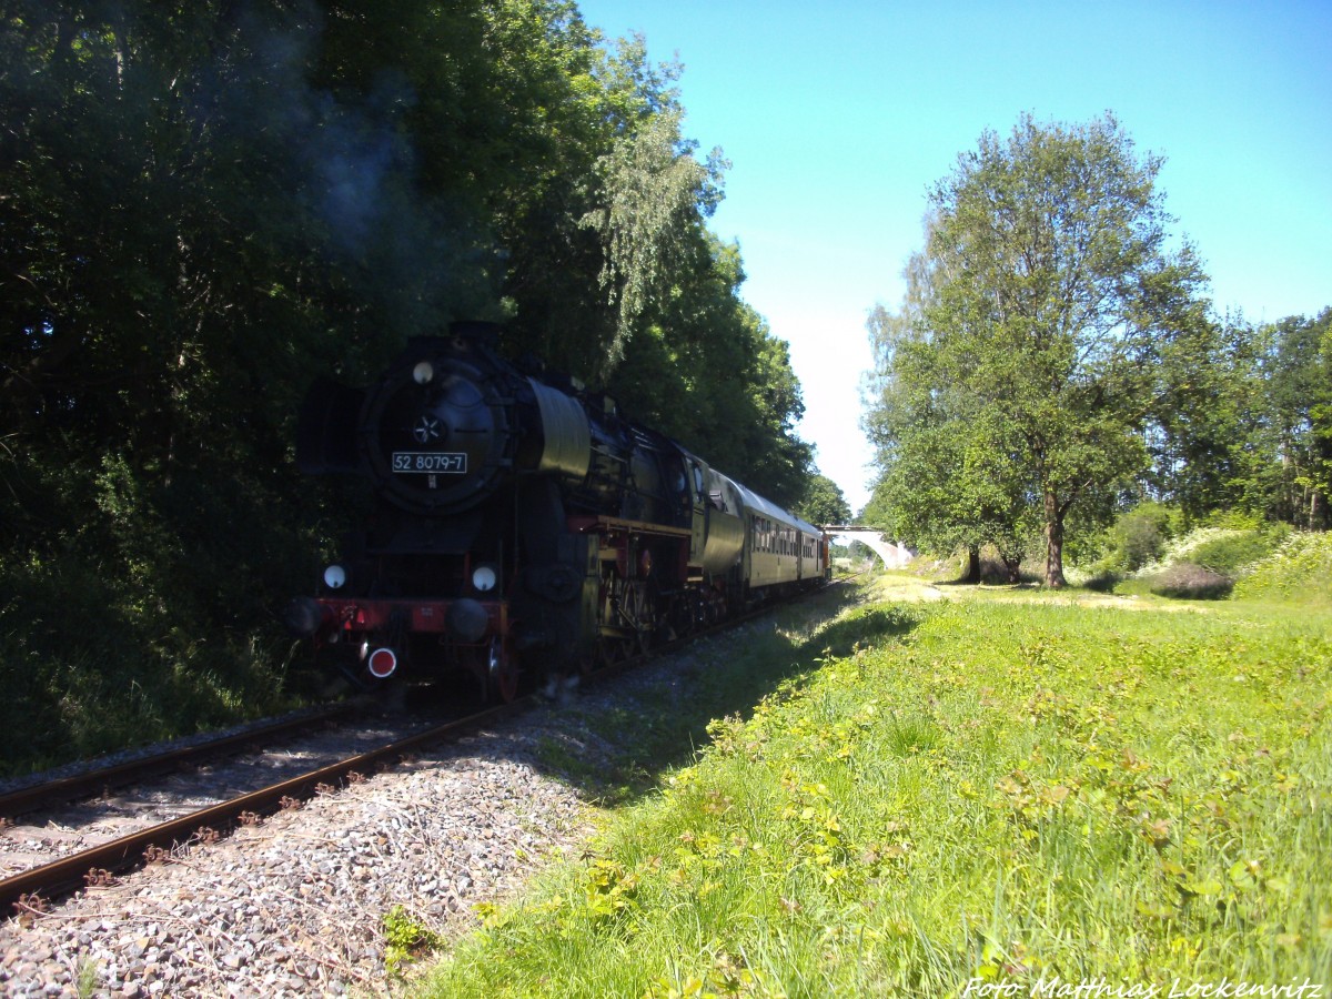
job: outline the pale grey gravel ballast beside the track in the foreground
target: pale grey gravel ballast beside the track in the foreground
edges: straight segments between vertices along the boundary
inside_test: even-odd
[[[436,931],[587,832],[539,771],[542,709],[0,927],[15,996],[282,996],[388,988],[384,914]],[[9,832],[5,830],[4,834]],[[3,834],[0,834],[3,835]]]

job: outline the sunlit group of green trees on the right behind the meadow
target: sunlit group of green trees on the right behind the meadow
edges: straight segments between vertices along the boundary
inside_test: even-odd
[[[1055,587],[1066,547],[1135,569],[1126,545],[1209,521],[1332,526],[1332,309],[1216,316],[1162,163],[1112,115],[1023,116],[931,189],[903,301],[868,324],[866,522]]]

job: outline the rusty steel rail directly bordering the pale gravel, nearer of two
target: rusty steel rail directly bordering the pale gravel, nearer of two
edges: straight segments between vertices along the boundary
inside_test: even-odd
[[[40,898],[49,902],[61,898],[99,880],[105,880],[103,872],[117,874],[137,867],[151,859],[169,856],[177,846],[198,842],[210,832],[221,832],[241,822],[245,814],[268,815],[284,806],[286,799],[302,801],[313,797],[324,786],[332,786],[352,773],[364,773],[393,757],[430,742],[486,725],[530,706],[526,699],[480,711],[468,718],[460,718],[445,725],[416,733],[404,739],[390,742],[368,753],[361,753],[338,763],[313,770],[301,777],[250,791],[220,805],[193,811],[177,819],[164,822],[151,829],[115,839],[109,843],[83,850],[77,854],[52,860],[41,867],[0,880],[0,911],[25,907],[40,911]],[[221,827],[221,829],[220,829]]]

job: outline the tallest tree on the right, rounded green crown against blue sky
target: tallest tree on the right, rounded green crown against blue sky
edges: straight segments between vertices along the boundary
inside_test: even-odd
[[[1110,113],[1076,127],[1026,115],[1007,141],[982,135],[930,193],[931,390],[964,400],[950,404],[963,441],[1014,446],[1006,496],[1030,482],[1052,587],[1070,510],[1146,468],[1156,362],[1205,314],[1192,248],[1168,248],[1162,163]]]

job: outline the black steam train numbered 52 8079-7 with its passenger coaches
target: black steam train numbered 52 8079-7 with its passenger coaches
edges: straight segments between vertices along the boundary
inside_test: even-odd
[[[510,701],[827,575],[818,527],[609,396],[505,360],[489,324],[413,338],[368,389],[317,381],[297,464],[376,490],[286,611],[361,683],[464,670]]]

